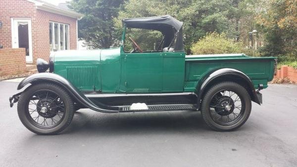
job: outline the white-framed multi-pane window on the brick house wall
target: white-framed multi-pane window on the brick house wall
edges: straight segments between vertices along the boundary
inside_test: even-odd
[[[69,25],[49,22],[49,49],[69,50]]]

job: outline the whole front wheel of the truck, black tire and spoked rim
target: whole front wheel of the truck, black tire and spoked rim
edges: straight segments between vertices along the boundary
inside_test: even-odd
[[[74,113],[69,94],[61,87],[42,83],[20,96],[17,111],[21,122],[36,134],[56,134],[71,122]]]

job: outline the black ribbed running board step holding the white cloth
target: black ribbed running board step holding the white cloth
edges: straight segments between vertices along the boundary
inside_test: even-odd
[[[131,106],[120,106],[119,112],[142,112],[142,111],[183,111],[183,110],[197,110],[193,104],[183,105],[148,105],[148,110],[131,110]]]

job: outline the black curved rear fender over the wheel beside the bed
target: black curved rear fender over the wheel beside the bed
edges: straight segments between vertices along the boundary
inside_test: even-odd
[[[215,71],[210,71],[208,72],[206,75],[204,75],[204,77],[200,80],[200,82],[197,85],[197,90],[198,90],[198,105],[200,105],[200,101],[203,98],[202,95],[205,93],[207,85],[210,84],[212,81],[214,81],[215,79],[218,79],[220,77],[224,77],[224,76],[232,76],[235,78],[240,78],[242,79],[245,83],[247,83],[248,86],[248,93],[251,96],[251,100],[257,104],[261,104],[257,95],[256,95],[256,91],[254,89],[253,83],[252,81],[249,79],[249,77],[236,69],[233,68],[221,68],[221,69],[217,69]]]

